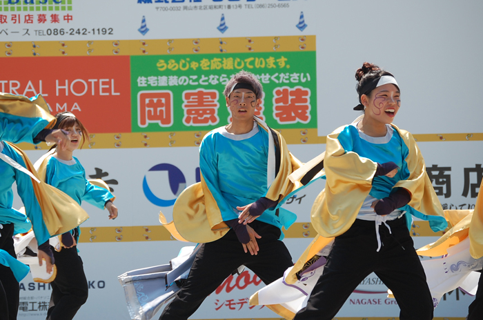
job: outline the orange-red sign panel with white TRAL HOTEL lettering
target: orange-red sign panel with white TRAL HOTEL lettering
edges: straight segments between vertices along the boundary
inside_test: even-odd
[[[1,92],[40,93],[52,114],[70,111],[90,132],[131,131],[129,57],[1,60]]]

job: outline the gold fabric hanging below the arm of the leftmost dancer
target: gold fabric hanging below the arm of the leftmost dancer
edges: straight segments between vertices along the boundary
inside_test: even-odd
[[[12,143],[6,143],[22,157],[27,170],[40,180],[40,183],[32,180],[32,186],[50,236],[68,232],[89,219],[87,212],[71,197],[44,182],[45,172],[43,173],[44,179],[40,179],[39,174],[22,150]]]

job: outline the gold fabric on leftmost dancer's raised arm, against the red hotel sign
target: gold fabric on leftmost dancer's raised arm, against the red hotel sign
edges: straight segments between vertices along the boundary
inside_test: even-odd
[[[26,118],[42,118],[49,121],[46,129],[55,125],[55,117],[50,114],[48,105],[39,94],[37,99],[30,101],[27,97],[0,92],[0,112]]]

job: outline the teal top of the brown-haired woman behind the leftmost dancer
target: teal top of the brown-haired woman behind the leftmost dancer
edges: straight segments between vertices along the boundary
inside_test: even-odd
[[[64,161],[52,156],[47,161],[46,183],[65,192],[79,205],[85,200],[103,209],[106,201],[114,198],[109,190],[94,186],[87,181],[86,171],[76,157],[72,157],[70,161]],[[77,230],[80,234],[79,227]]]

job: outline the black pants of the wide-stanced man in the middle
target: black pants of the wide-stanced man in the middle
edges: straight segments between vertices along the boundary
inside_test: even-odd
[[[250,268],[266,284],[279,279],[293,266],[285,244],[278,240],[279,228],[257,220],[250,223],[250,227],[262,236],[257,239],[258,254],[245,253],[233,230],[217,241],[201,244],[186,283],[159,319],[188,319],[239,266]]]

